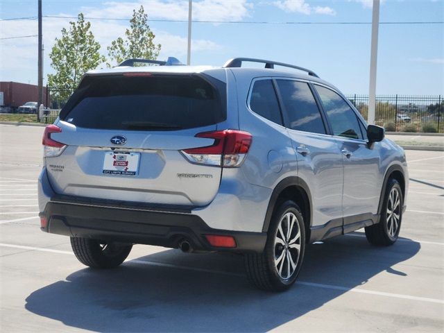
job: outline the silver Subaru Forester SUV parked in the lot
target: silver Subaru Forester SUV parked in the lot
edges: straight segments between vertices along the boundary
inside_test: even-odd
[[[44,132],[41,229],[71,237],[80,262],[118,266],[133,244],[231,251],[280,291],[306,244],[398,239],[404,151],[313,71],[135,62],[153,61],[89,71]]]

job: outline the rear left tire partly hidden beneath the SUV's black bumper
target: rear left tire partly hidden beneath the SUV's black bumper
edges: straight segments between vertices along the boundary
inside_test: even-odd
[[[114,268],[130,254],[133,245],[71,237],[71,248],[79,262],[92,268]]]

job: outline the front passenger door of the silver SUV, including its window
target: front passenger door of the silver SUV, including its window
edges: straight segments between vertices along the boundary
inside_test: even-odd
[[[352,224],[370,225],[377,214],[381,190],[377,145],[368,146],[365,127],[355,110],[336,92],[315,85],[319,99],[341,151],[344,169],[344,232]]]

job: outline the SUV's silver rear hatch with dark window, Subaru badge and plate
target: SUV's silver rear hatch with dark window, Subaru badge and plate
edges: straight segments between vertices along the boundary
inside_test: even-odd
[[[207,205],[222,168],[182,151],[214,144],[196,135],[226,119],[225,100],[225,83],[203,74],[85,76],[45,133],[49,181],[70,196]]]

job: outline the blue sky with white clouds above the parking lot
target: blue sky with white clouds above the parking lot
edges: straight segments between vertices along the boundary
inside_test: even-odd
[[[61,29],[83,12],[106,47],[124,35],[143,5],[159,59],[187,60],[188,0],[42,0],[44,84],[49,52]],[[264,58],[309,68],[345,94],[368,94],[372,0],[194,0],[191,65],[221,66],[235,57]],[[55,16],[55,17],[54,17]],[[31,17],[31,19],[16,19]],[[0,1],[0,80],[37,83],[37,0]],[[12,20],[11,20],[12,19]],[[116,20],[119,19],[119,20]],[[161,20],[161,21],[157,21]],[[444,0],[382,0],[377,94],[444,94]],[[267,22],[247,24],[245,22]],[[287,23],[285,23],[287,22]],[[293,22],[289,24],[289,22]],[[311,22],[311,24],[294,24]],[[330,24],[364,22],[366,24]],[[328,24],[315,24],[328,23]],[[8,38],[8,39],[5,39]],[[102,65],[104,67],[104,65]]]

